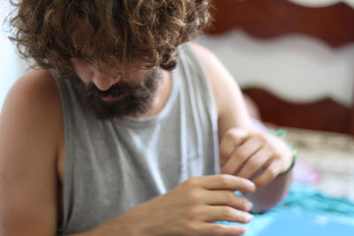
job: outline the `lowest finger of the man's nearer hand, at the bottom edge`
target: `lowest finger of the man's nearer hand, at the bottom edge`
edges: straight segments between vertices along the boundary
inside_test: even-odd
[[[237,236],[246,232],[246,228],[242,225],[221,225],[216,223],[202,223],[202,232],[204,236]]]

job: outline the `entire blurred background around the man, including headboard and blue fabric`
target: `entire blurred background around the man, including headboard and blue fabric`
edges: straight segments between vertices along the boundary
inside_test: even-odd
[[[352,235],[354,0],[212,2],[215,22],[196,42],[226,65],[249,95],[255,117],[286,129],[298,149],[289,197],[253,221],[247,236],[298,235],[299,229],[305,229],[303,235]],[[10,11],[8,1],[0,0],[1,22]],[[27,70],[7,29],[3,25],[0,34],[0,110],[13,82]],[[289,215],[281,215],[284,208]],[[287,219],[281,222],[286,226],[273,227],[279,219]]]

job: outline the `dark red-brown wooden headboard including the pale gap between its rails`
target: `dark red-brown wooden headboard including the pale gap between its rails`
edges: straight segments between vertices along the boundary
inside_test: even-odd
[[[196,41],[264,121],[354,135],[353,3],[214,0],[215,21]]]

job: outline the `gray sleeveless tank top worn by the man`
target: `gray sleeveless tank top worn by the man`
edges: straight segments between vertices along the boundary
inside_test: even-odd
[[[98,120],[68,80],[64,214],[58,235],[89,231],[182,181],[219,172],[217,113],[204,68],[181,45],[165,107],[153,118]]]

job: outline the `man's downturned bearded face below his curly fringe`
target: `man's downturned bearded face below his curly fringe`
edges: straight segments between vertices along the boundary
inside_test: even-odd
[[[72,61],[74,88],[97,118],[135,117],[149,110],[161,78],[160,69],[136,69],[139,66],[132,64],[122,66],[120,71],[103,68],[104,73],[84,59]]]

